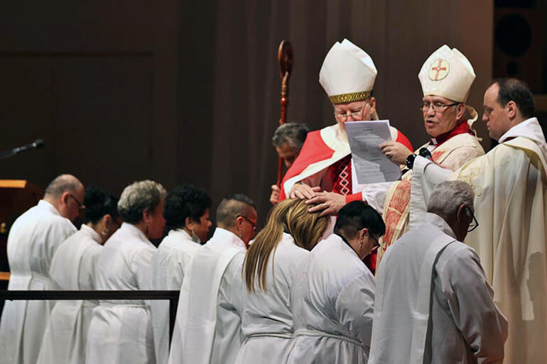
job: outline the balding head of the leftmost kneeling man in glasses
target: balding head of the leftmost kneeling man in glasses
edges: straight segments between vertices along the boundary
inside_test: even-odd
[[[44,200],[55,206],[61,216],[74,221],[84,209],[84,185],[73,175],[60,175],[45,188]]]

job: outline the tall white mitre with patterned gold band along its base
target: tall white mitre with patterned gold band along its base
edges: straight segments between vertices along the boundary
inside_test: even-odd
[[[332,45],[319,72],[319,83],[332,104],[369,98],[377,75],[372,58],[344,39]]]

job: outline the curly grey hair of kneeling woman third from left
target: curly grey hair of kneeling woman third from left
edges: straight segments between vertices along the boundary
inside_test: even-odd
[[[137,224],[143,218],[143,211],[152,211],[166,197],[166,189],[151,180],[129,184],[121,192],[118,211],[122,219],[129,224]]]

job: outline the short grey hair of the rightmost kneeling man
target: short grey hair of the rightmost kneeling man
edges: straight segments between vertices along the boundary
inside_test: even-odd
[[[428,212],[437,214],[443,219],[448,217],[460,208],[462,204],[474,209],[473,203],[475,194],[467,182],[445,181],[433,189],[428,202]]]

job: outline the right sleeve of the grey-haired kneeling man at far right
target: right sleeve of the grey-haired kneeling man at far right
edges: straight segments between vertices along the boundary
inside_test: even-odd
[[[475,251],[459,250],[436,269],[454,322],[477,363],[502,363],[507,319],[494,304],[494,291]]]

